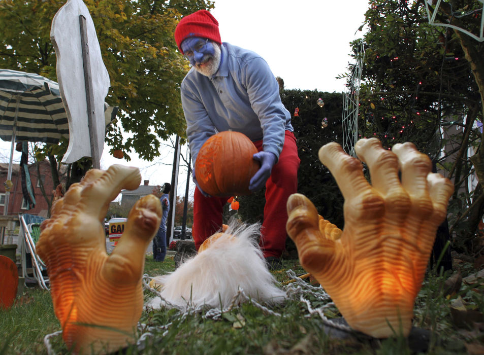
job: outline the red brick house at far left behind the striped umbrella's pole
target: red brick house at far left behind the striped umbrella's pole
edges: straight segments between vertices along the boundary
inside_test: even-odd
[[[12,187],[10,189],[10,196],[9,196],[9,205],[7,215],[18,215],[22,214],[30,214],[30,215],[38,215],[41,217],[47,217],[48,214],[48,204],[42,194],[40,189],[40,183],[42,181],[45,192],[47,194],[48,199],[52,199],[54,190],[53,182],[51,179],[51,170],[50,170],[50,163],[47,160],[44,160],[39,163],[39,172],[37,171],[36,164],[29,164],[28,165],[28,172],[30,174],[30,181],[32,184],[32,188],[34,190],[36,204],[34,208],[27,209],[27,203],[23,198],[22,194],[22,183],[21,183],[21,175],[20,175],[20,164],[13,164],[12,165]],[[6,194],[6,181],[8,175],[8,167],[9,164],[7,163],[0,163],[0,214],[4,215],[5,209],[5,194]]]

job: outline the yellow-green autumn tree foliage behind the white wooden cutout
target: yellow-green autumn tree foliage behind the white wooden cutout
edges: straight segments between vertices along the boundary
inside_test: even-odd
[[[58,81],[50,27],[54,15],[65,3],[0,0],[0,67]],[[159,156],[160,141],[172,134],[181,137],[185,134],[179,90],[188,64],[173,38],[176,24],[182,16],[210,9],[213,3],[209,0],[85,0],[84,3],[94,22],[111,80],[106,102],[119,107],[116,122],[107,128],[106,142],[112,147],[111,153],[121,150],[127,160],[134,152],[151,161]],[[123,136],[122,132],[126,134]],[[55,166],[66,149],[67,142],[63,141],[58,146],[47,145],[37,153],[39,159],[49,157]],[[80,162],[73,167],[73,175],[80,179],[89,167],[89,162]]]

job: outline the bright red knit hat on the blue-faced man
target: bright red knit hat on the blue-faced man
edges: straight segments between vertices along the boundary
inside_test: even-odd
[[[208,38],[213,42],[222,44],[218,31],[218,21],[207,10],[194,12],[178,22],[175,29],[175,41],[181,53],[183,53],[181,43],[188,37]]]

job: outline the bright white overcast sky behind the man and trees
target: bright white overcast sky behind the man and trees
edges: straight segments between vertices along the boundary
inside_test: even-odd
[[[343,92],[349,42],[361,38],[358,28],[365,20],[366,0],[216,0],[211,12],[219,22],[222,42],[250,49],[266,59],[286,89]],[[8,163],[10,142],[0,140],[0,159]],[[124,164],[140,168],[150,185],[171,181],[173,150],[166,147],[162,158],[145,162],[131,154],[132,161],[115,159],[105,147],[101,168]],[[20,155],[14,155],[20,161]],[[185,170],[186,171],[186,170]],[[184,195],[186,172],[181,169],[177,195]]]

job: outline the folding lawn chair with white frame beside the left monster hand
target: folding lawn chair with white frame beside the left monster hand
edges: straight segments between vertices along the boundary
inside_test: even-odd
[[[35,216],[38,217],[38,216]],[[47,286],[49,277],[47,267],[36,253],[36,243],[40,236],[40,223],[28,223],[28,216],[19,215],[19,250],[21,255],[22,277],[25,284],[38,283],[42,289],[49,290]]]

